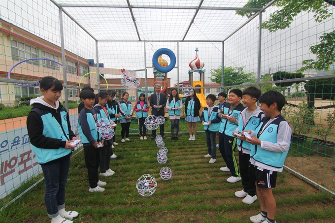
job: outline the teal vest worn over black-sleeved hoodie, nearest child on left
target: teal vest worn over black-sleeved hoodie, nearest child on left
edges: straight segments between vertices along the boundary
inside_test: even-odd
[[[62,141],[69,140],[68,126],[67,126],[67,112],[64,109],[61,111],[62,126],[52,116],[52,114],[46,110],[33,108],[32,111],[37,112],[41,116],[43,122],[43,135],[54,139],[61,139]],[[64,131],[63,131],[64,130]],[[39,164],[47,163],[55,159],[59,159],[67,156],[72,151],[70,149],[59,148],[59,149],[42,149],[37,148],[34,145],[33,152],[36,155],[37,162]]]

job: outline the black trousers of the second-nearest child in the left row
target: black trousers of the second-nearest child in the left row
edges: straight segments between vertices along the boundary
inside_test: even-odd
[[[91,188],[98,186],[99,175],[98,169],[100,164],[100,149],[94,146],[84,146],[85,164],[87,167],[88,181]]]

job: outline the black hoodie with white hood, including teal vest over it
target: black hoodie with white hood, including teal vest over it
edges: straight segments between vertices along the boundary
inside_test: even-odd
[[[75,137],[67,110],[59,103],[52,107],[43,96],[31,99],[32,111],[27,117],[27,129],[39,164],[48,164],[70,155],[66,142]],[[57,135],[57,136],[55,136]]]

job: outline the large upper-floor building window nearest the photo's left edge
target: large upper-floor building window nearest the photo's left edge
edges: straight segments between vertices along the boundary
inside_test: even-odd
[[[16,40],[11,40],[11,45],[13,61],[23,61],[27,59],[37,58],[37,48]],[[38,61],[27,61],[26,63],[38,65]]]

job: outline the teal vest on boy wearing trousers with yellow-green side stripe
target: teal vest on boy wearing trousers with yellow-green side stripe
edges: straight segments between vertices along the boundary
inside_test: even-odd
[[[224,105],[224,107],[223,107],[224,114],[229,115],[229,108],[230,108],[230,104],[228,104],[227,106]],[[243,105],[242,104],[238,104],[234,108],[231,116],[234,116],[235,119],[238,120],[239,113],[243,109],[244,109]],[[236,136],[232,134],[232,132],[234,130],[236,130],[236,128],[237,128],[237,125],[235,123],[229,122],[227,119],[221,119],[221,125],[220,125],[220,130],[219,130],[220,133],[224,133],[225,135],[228,135],[228,136],[236,138]]]

